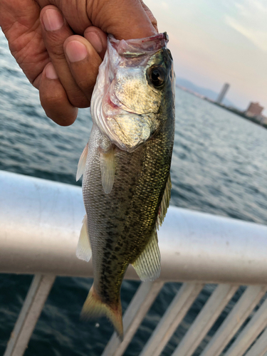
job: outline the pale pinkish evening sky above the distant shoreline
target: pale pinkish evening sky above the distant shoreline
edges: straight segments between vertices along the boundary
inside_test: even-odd
[[[245,110],[259,102],[267,115],[266,0],[145,0],[167,31],[177,77],[219,93]]]

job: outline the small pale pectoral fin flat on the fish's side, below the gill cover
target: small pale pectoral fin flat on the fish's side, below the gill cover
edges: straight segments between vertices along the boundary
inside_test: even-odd
[[[102,187],[105,194],[109,194],[112,191],[115,180],[115,150],[113,148],[110,148],[107,152],[102,151],[100,153],[100,169]]]

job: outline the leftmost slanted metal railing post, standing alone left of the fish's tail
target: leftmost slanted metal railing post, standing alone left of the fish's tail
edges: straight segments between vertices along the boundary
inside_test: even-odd
[[[4,356],[23,355],[56,276],[36,274],[11,333]]]

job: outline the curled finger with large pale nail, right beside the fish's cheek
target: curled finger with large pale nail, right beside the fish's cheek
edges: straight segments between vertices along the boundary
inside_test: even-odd
[[[95,48],[82,36],[67,38],[64,51],[75,83],[90,102],[102,59]]]

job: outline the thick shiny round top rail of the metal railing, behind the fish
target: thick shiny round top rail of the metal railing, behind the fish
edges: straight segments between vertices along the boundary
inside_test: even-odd
[[[93,276],[75,256],[84,214],[80,187],[0,171],[0,273]],[[162,281],[267,284],[267,226],[170,206],[159,248]]]

